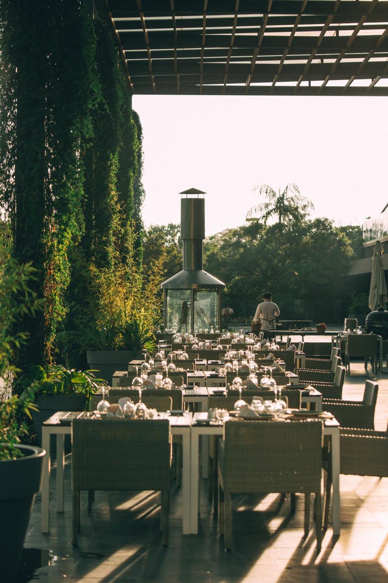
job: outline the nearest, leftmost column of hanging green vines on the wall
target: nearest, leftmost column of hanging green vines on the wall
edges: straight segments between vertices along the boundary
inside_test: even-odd
[[[2,203],[16,257],[34,262],[33,289],[45,298],[41,316],[23,318],[31,343],[19,358],[50,363],[66,315],[68,247],[83,232],[81,153],[92,132],[96,40],[80,0],[27,2],[23,10],[4,0],[0,20]]]

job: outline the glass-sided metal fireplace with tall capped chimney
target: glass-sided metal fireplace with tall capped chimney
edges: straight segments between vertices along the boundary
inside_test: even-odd
[[[181,194],[183,269],[161,284],[164,291],[164,329],[216,332],[221,326],[225,284],[203,270],[204,194],[189,188]]]

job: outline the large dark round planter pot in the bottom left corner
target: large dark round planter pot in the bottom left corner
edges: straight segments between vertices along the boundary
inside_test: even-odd
[[[22,458],[0,462],[0,580],[16,580],[35,494],[41,489],[44,449],[18,445]]]

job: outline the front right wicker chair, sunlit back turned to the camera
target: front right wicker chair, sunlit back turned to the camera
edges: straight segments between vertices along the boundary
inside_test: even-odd
[[[225,549],[231,549],[232,542],[232,494],[291,492],[305,494],[306,536],[310,494],[315,494],[316,538],[320,550],[322,436],[320,420],[225,423],[218,461],[220,534],[225,536]]]

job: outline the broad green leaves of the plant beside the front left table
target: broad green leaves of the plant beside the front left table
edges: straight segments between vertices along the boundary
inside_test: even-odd
[[[24,388],[27,394],[34,395],[85,395],[87,399],[107,385],[102,378],[96,378],[92,370],[67,370],[63,366],[30,367],[16,382],[16,386]]]

